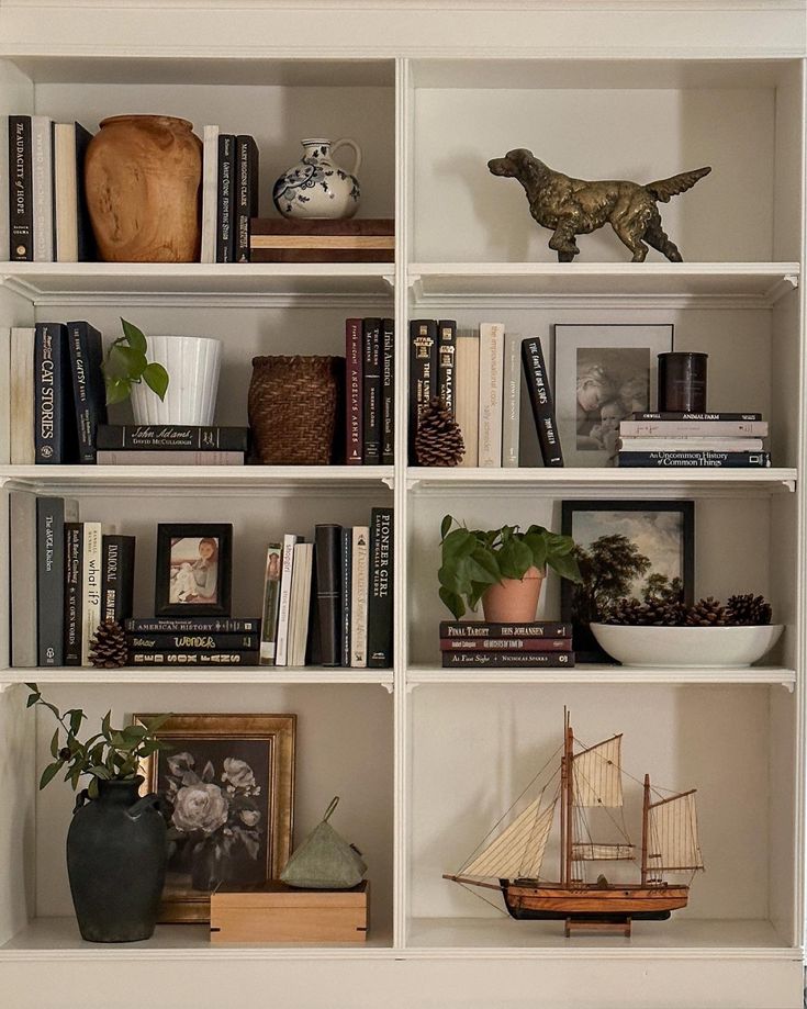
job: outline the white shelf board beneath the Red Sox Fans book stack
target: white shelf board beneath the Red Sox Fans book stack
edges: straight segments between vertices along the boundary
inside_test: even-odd
[[[7,669],[0,671],[0,683],[13,686],[19,683],[88,683],[112,685],[149,684],[266,684],[288,686],[305,683],[379,684],[392,690],[391,669],[330,669],[310,665],[291,669],[273,665],[217,665],[217,666],[124,666],[123,669],[92,669],[90,666],[40,666],[37,669]]]

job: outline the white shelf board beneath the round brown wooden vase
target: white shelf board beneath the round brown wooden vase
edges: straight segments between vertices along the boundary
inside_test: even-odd
[[[0,283],[36,305],[126,303],[141,298],[250,299],[391,295],[391,262],[4,262]]]

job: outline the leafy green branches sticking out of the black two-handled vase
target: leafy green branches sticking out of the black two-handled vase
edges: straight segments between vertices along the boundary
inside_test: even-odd
[[[81,722],[87,718],[80,708],[70,708],[64,715],[55,704],[45,700],[35,683],[26,683],[31,694],[26,707],[34,705],[47,708],[58,725],[51,740],[53,762],[45,767],[40,778],[40,788],[49,784],[63,769],[67,769],[65,781],[75,792],[82,775],[90,776],[87,787],[90,798],[98,797],[99,780],[105,782],[135,781],[139,774],[141,761],[158,750],[170,749],[168,743],[157,739],[156,732],[171,716],[158,715],[149,724],[125,726],[114,729],[111,711],[101,719],[101,731],[79,739]]]

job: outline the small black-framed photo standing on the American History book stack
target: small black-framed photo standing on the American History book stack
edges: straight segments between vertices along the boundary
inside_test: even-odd
[[[156,615],[228,617],[232,567],[232,525],[160,523]]]

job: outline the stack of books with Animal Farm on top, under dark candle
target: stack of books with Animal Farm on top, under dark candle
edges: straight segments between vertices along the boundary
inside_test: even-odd
[[[769,467],[756,413],[635,413],[619,424],[620,467]]]

